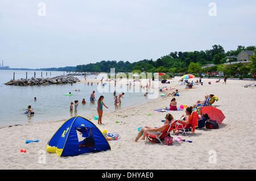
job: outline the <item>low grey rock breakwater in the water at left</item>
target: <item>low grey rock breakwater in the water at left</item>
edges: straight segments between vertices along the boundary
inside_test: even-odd
[[[62,83],[76,83],[79,82],[79,78],[68,76],[68,75],[60,75],[52,78],[34,78],[26,79],[11,79],[10,82],[5,83],[5,85],[14,85],[14,86],[28,86],[28,85],[52,85],[52,84],[62,84]]]

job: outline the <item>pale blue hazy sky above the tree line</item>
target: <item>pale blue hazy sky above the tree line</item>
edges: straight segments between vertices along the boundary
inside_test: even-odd
[[[256,45],[256,1],[1,0],[0,63],[60,68]]]

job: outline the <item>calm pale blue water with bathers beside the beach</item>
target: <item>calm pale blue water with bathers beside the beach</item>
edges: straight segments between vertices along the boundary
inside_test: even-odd
[[[99,84],[87,85],[87,83],[73,83],[65,85],[47,85],[47,86],[6,86],[3,83],[9,82],[13,79],[15,72],[15,79],[26,78],[26,72],[28,78],[34,77],[34,71],[27,70],[0,70],[0,97],[1,97],[1,109],[0,109],[0,126],[24,124],[24,123],[38,123],[44,121],[54,121],[61,119],[69,119],[72,116],[90,116],[97,115],[97,101],[90,102],[89,97],[92,91],[96,91],[95,97],[98,99],[100,95],[104,95],[104,103],[109,107],[107,110],[104,107],[104,112],[114,111],[114,87],[105,86],[105,89],[109,88],[109,91],[101,92],[102,86]],[[36,77],[56,77],[58,75],[66,74],[63,71],[35,71]],[[46,76],[47,73],[47,76]],[[76,76],[82,79],[83,77]],[[89,75],[87,78],[101,78],[94,75]],[[127,86],[126,86],[127,87]],[[142,96],[141,89],[139,92],[127,91],[121,98],[121,108],[133,107],[139,104],[146,103],[147,97]],[[80,91],[75,91],[80,90]],[[98,91],[100,90],[100,92]],[[65,96],[65,93],[72,92],[72,96]],[[121,93],[117,90],[117,94]],[[37,100],[34,100],[34,97]],[[82,104],[82,99],[85,99],[86,104]],[[79,106],[75,111],[69,111],[71,102],[79,100]],[[35,112],[34,116],[28,116],[24,114],[28,105],[31,105]]]

